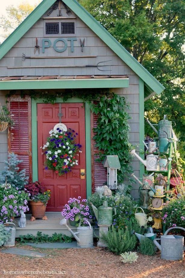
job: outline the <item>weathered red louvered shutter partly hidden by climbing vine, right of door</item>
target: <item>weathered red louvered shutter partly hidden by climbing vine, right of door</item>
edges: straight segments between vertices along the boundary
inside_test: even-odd
[[[98,115],[93,114],[93,127],[97,127],[97,118]],[[97,153],[99,153],[98,148],[95,147],[96,141],[94,141],[94,187],[96,186],[102,186],[103,183],[107,182],[107,168],[103,167],[102,162],[96,161],[99,156]]]

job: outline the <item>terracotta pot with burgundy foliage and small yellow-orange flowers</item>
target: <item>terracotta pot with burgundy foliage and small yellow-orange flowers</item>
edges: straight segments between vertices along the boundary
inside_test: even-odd
[[[30,207],[32,217],[30,221],[42,217],[42,220],[47,220],[45,216],[46,205],[50,199],[50,190],[46,190],[40,182],[33,182],[25,186],[25,189],[30,193]]]

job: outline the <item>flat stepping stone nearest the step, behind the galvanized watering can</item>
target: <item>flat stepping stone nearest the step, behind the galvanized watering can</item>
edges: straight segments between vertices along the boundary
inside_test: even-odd
[[[77,241],[61,243],[61,242],[54,242],[54,243],[26,243],[25,245],[30,245],[36,248],[55,248],[55,249],[64,249],[64,248],[81,248],[77,246]],[[91,247],[91,248],[94,248]]]

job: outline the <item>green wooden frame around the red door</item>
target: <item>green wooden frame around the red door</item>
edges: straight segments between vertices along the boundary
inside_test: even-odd
[[[38,180],[38,143],[37,143],[37,103],[44,103],[43,99],[31,99],[32,117],[32,171],[33,182]],[[55,103],[64,103],[57,98]],[[86,197],[92,195],[91,179],[91,121],[90,106],[80,98],[70,98],[65,103],[84,103],[85,105],[85,137],[86,137]],[[37,161],[37,163],[35,163]]]

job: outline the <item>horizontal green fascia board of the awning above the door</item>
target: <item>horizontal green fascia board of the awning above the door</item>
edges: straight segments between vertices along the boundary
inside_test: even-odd
[[[0,81],[0,90],[125,88],[129,78],[49,79]]]

